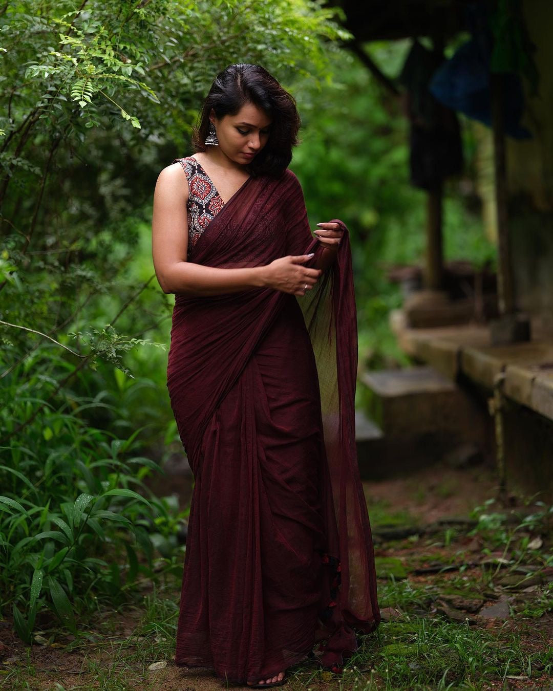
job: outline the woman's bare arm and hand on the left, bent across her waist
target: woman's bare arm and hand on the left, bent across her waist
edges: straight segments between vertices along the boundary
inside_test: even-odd
[[[158,282],[165,293],[194,296],[240,292],[255,287],[303,295],[321,275],[302,263],[310,256],[281,257],[267,266],[217,269],[187,261],[188,184],[180,164],[163,169],[153,196],[152,256]]]

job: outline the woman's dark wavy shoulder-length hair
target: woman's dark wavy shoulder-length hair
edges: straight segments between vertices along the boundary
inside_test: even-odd
[[[265,111],[272,123],[267,143],[246,169],[253,176],[267,174],[278,177],[292,160],[292,147],[299,143],[297,133],[301,121],[294,97],[260,65],[229,65],[218,73],[192,135],[194,151],[207,149],[205,139],[212,108],[220,119],[224,115],[236,115],[247,103]]]

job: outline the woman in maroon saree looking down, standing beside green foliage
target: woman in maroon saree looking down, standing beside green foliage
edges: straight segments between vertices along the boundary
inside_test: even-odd
[[[355,452],[347,229],[312,236],[287,166],[294,99],[219,73],[194,155],[158,178],[153,261],[175,293],[167,387],[194,473],[176,663],[282,685],[315,642],[339,671],[379,621]]]

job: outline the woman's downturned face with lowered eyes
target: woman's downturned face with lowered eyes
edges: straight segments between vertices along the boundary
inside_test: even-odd
[[[209,120],[215,125],[219,150],[243,166],[252,162],[267,144],[272,122],[265,111],[252,103],[244,104],[236,115],[223,115],[220,120],[212,110]]]

